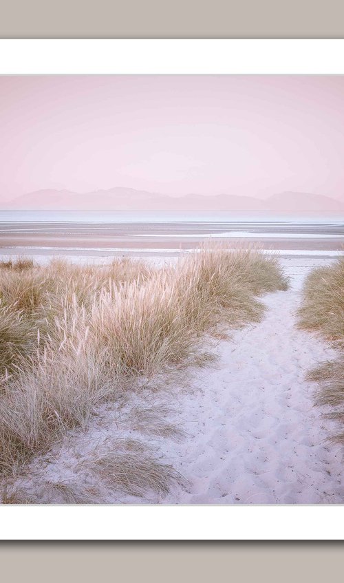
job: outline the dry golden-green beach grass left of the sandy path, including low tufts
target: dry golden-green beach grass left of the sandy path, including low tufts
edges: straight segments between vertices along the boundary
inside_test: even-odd
[[[101,403],[130,399],[157,375],[206,364],[204,335],[258,321],[264,314],[259,295],[287,286],[277,257],[221,244],[205,244],[162,269],[131,259],[109,266],[3,262],[1,473],[25,471],[34,454],[47,452],[69,430],[87,432]],[[149,427],[157,436],[173,435],[156,414],[133,408],[134,417],[143,435]],[[82,463],[114,487],[139,494],[181,480],[144,440],[135,451],[128,443],[115,438],[111,449]]]

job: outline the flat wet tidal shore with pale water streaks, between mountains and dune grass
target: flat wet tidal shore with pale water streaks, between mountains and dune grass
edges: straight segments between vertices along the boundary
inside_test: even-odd
[[[0,222],[0,253],[80,255],[149,249],[170,253],[192,249],[212,237],[235,246],[266,249],[341,251],[341,224],[259,222]]]

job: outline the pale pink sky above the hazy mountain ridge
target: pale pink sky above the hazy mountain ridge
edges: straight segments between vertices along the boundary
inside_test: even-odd
[[[36,189],[344,200],[344,76],[2,76],[0,202]]]

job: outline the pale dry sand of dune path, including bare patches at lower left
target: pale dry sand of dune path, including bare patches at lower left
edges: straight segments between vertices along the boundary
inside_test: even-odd
[[[176,442],[140,434],[133,430],[127,407],[104,406],[87,434],[71,434],[63,449],[56,450],[56,460],[34,460],[34,487],[41,480],[85,480],[85,474],[75,471],[76,460],[111,438],[130,436],[155,447],[161,461],[171,463],[191,485],[187,491],[174,487],[166,497],[152,492],[144,498],[104,488],[103,502],[343,502],[341,449],[325,441],[333,426],[314,407],[316,385],[304,380],[310,367],[336,353],[320,337],[294,326],[305,275],[330,261],[281,259],[291,277],[290,290],[266,295],[263,321],[233,332],[230,341],[214,348],[217,365],[195,370],[191,389],[173,387],[169,394],[135,397],[136,404],[153,411],[172,403],[167,418],[184,427],[185,438]],[[28,480],[21,483],[32,488]]]

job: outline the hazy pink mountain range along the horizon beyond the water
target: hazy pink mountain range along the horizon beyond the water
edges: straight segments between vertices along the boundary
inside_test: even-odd
[[[87,193],[38,190],[3,204],[3,209],[56,211],[344,211],[344,203],[308,192],[281,192],[266,199],[233,194],[180,197],[116,187]]]

